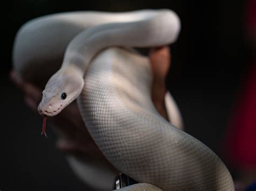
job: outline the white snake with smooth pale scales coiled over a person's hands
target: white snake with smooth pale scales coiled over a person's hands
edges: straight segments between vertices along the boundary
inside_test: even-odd
[[[179,30],[170,10],[90,11],[33,19],[17,34],[14,67],[25,79],[40,79],[64,55],[38,111],[54,116],[78,98],[84,123],[105,157],[140,182],[122,190],[234,190],[217,155],[154,108],[147,58],[117,48],[171,44]]]

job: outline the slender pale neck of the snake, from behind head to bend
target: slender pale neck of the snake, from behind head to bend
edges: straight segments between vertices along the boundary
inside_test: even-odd
[[[180,21],[171,10],[145,11],[123,23],[91,27],[79,33],[66,49],[62,68],[72,65],[84,75],[102,49],[112,46],[154,47],[176,41]]]

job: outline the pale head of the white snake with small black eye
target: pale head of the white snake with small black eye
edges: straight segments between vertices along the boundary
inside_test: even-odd
[[[72,70],[58,70],[46,83],[42,101],[38,105],[41,115],[55,116],[75,100],[84,86],[82,75]]]

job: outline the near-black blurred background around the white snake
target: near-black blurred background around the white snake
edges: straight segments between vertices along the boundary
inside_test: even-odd
[[[50,128],[49,138],[41,137],[42,118],[26,107],[22,93],[8,77],[12,44],[19,27],[32,18],[56,12],[158,8],[176,11],[181,33],[171,46],[168,88],[180,107],[186,131],[223,159],[221,140],[249,56],[244,1],[25,0],[5,1],[1,8],[1,191],[87,190],[70,170],[64,154],[55,148],[56,137]]]

